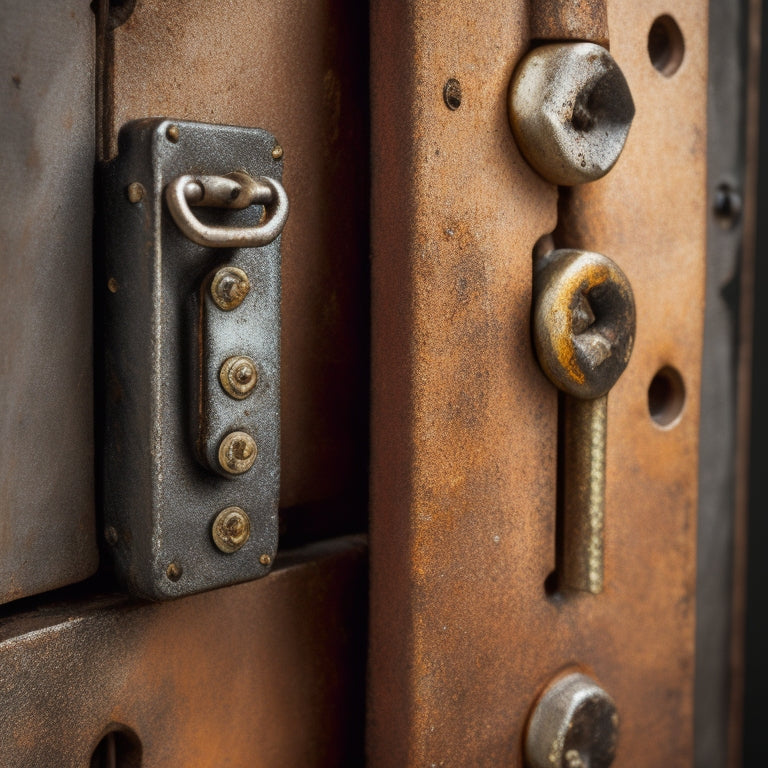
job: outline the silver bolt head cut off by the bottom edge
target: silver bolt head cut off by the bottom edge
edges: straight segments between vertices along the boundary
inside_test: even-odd
[[[619,717],[613,699],[590,677],[555,680],[537,702],[525,736],[528,768],[608,768]]]

